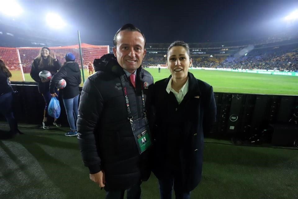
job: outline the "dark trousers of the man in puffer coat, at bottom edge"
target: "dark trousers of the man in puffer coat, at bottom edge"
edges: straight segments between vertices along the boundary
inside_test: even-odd
[[[127,199],[141,199],[141,184],[135,184],[129,189],[127,189]],[[123,191],[109,191],[106,192],[106,199],[123,199],[124,198]]]

